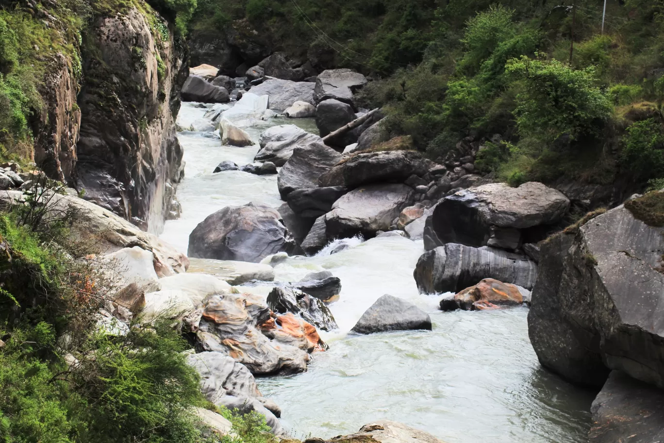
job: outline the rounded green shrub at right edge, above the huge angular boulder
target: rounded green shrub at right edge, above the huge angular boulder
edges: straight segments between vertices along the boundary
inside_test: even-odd
[[[622,139],[623,166],[639,179],[664,175],[664,134],[654,118],[636,122]]]

